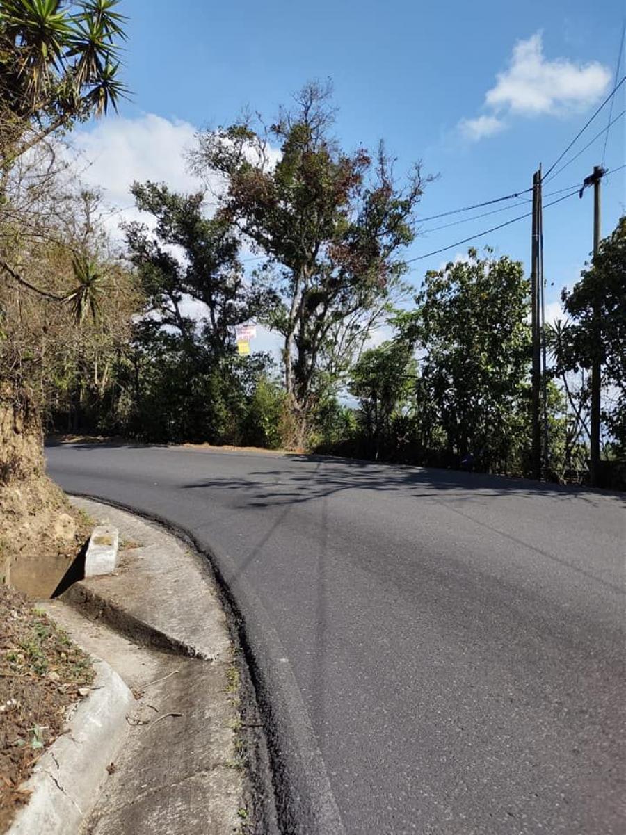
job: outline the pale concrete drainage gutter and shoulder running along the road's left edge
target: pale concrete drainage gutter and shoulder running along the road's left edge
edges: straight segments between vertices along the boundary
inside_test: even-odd
[[[48,614],[133,694],[88,835],[262,831],[247,768],[237,653],[210,570],[159,525],[73,503],[120,531],[115,574],[79,581]]]

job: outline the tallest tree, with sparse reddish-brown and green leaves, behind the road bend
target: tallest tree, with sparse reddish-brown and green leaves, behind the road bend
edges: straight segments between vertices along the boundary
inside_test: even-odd
[[[282,335],[298,446],[399,290],[399,253],[425,185],[416,165],[400,189],[382,145],[374,155],[339,149],[330,92],[309,83],[269,129],[245,121],[207,131],[191,157],[196,172],[226,182],[217,216],[265,256],[257,283],[274,294],[265,321]]]

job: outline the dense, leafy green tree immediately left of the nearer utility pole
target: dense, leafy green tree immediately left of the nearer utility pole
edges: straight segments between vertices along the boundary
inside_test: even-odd
[[[526,443],[529,286],[522,264],[491,250],[425,276],[417,310],[399,323],[419,345],[420,384],[450,455],[480,454],[510,470]]]

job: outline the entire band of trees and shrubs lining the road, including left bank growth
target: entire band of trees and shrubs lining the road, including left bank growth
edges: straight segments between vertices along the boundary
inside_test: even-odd
[[[109,237],[64,140],[125,94],[122,5],[0,0],[3,559],[9,529],[32,552],[71,514],[45,478],[44,431],[528,475],[524,266],[487,247],[410,274],[435,180],[383,143],[343,148],[328,84],[305,84],[267,122],[199,133],[186,160],[197,192],[135,183],[145,223]],[[604,483],[624,483],[625,240],[622,219],[548,328],[547,478],[587,478],[601,352]],[[238,355],[251,321],[279,356]]]

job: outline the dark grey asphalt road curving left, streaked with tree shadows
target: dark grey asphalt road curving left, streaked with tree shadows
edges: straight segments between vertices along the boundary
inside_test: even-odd
[[[48,468],[211,550],[285,832],[623,835],[623,498],[191,448]]]

